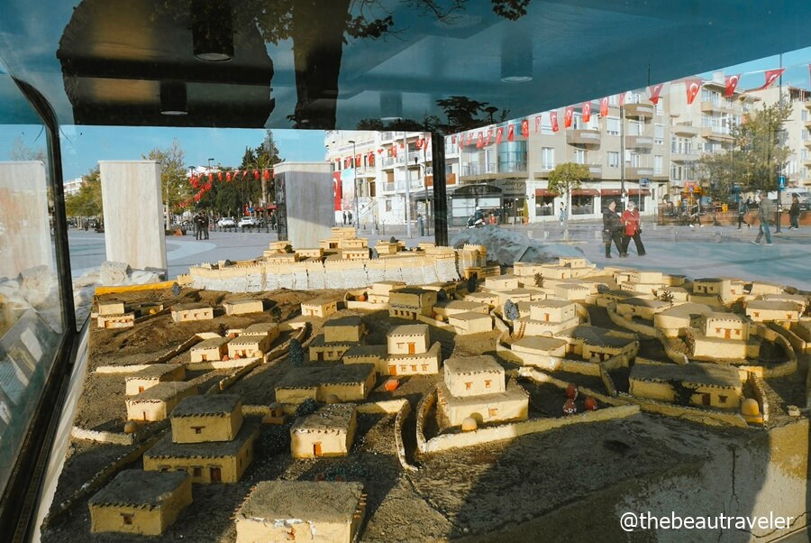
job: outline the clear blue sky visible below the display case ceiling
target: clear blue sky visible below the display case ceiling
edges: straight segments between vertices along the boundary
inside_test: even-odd
[[[783,85],[809,88],[808,63],[811,48],[790,51],[782,56]],[[719,68],[726,75],[743,74],[738,89],[760,87],[763,70],[776,69],[778,55],[752,60],[732,67]],[[712,78],[713,71],[697,74]],[[561,105],[562,106],[562,105]],[[264,129],[236,128],[152,128],[122,126],[63,126],[62,161],[64,179],[74,179],[94,168],[98,161],[138,160],[154,148],[165,148],[177,138],[186,151],[187,166],[215,164],[239,165],[246,147],[257,147]],[[324,133],[320,130],[274,130],[280,156],[287,161],[323,161]],[[36,125],[0,126],[0,160],[8,160],[14,141],[19,139],[31,149],[44,148],[44,135]]]

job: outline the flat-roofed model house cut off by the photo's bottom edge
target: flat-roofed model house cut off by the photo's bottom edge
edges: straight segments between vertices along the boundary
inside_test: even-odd
[[[236,543],[358,539],[366,514],[361,483],[262,481],[234,515]]]

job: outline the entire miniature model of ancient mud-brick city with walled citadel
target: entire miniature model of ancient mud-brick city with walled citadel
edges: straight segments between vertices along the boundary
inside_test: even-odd
[[[807,293],[370,249],[334,228],[98,293],[43,540],[501,540],[805,405]]]

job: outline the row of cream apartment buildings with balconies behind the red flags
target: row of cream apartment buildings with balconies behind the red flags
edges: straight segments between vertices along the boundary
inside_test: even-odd
[[[561,202],[572,219],[596,219],[623,189],[649,216],[665,198],[695,198],[708,183],[698,170],[700,157],[726,152],[743,115],[779,100],[777,84],[744,90],[726,97],[724,73],[716,72],[710,80],[665,83],[656,104],[652,89],[634,90],[449,134],[449,224],[464,224],[477,207],[497,224],[553,221]],[[811,188],[811,93],[783,87],[783,94],[792,107],[788,186]],[[406,201],[413,225],[418,217],[433,220],[429,133],[333,131],[326,140],[328,160],[342,179],[344,209],[353,214],[357,179],[361,227],[405,224]],[[550,172],[564,162],[584,164],[591,175],[570,202],[549,189]],[[342,222],[341,212],[336,220]]]

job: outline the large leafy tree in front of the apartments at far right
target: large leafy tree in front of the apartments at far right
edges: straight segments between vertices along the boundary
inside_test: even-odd
[[[764,105],[744,115],[741,124],[730,129],[733,143],[725,152],[705,154],[698,161],[707,194],[726,199],[737,183],[743,190],[776,190],[779,172],[791,150],[781,144],[783,124],[791,109],[788,100]]]

